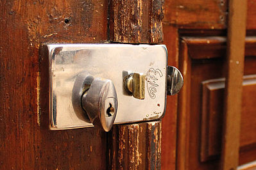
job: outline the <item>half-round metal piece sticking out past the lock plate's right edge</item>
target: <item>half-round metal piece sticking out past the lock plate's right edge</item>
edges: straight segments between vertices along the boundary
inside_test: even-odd
[[[182,86],[182,73],[175,66],[167,66],[167,95],[177,94]]]

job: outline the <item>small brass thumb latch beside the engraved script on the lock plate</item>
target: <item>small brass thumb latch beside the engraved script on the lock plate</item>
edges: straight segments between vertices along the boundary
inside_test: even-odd
[[[132,93],[133,97],[143,100],[145,98],[145,75],[143,73],[131,73],[124,77],[124,89]]]

